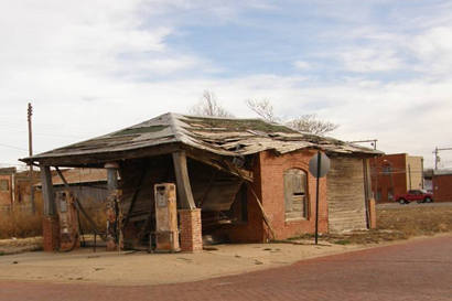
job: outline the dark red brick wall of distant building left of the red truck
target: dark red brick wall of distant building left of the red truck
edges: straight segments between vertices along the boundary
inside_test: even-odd
[[[385,161],[386,160],[386,161]],[[389,162],[389,163],[388,163]],[[391,166],[391,173],[384,173],[384,166]],[[375,166],[378,171],[377,183],[375,183]],[[370,159],[372,168],[372,190],[376,196],[375,184],[377,184],[377,191],[381,191],[380,200],[376,200],[377,203],[392,202],[388,200],[388,192],[390,189],[394,191],[394,195],[407,193],[407,154],[395,153],[378,157],[375,160]]]

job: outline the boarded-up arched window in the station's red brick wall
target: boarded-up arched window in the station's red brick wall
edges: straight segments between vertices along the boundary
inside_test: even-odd
[[[298,169],[284,172],[286,219],[308,217],[308,175]]]

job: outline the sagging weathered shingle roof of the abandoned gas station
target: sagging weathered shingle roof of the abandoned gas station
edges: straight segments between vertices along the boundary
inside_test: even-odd
[[[261,119],[211,118],[168,112],[139,125],[22,161],[94,155],[183,143],[219,155],[237,157],[273,150],[279,154],[315,148],[329,153],[381,154],[333,138],[299,132]]]

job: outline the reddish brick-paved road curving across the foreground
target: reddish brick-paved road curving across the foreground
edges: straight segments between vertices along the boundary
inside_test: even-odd
[[[452,236],[300,261],[198,282],[154,287],[0,282],[0,301],[452,300]]]

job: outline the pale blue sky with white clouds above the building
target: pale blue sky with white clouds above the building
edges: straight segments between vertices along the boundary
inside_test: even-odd
[[[452,1],[0,2],[0,164],[166,111],[203,90],[237,117],[270,99],[332,136],[432,164],[452,147]],[[442,153],[452,166],[452,153]]]

